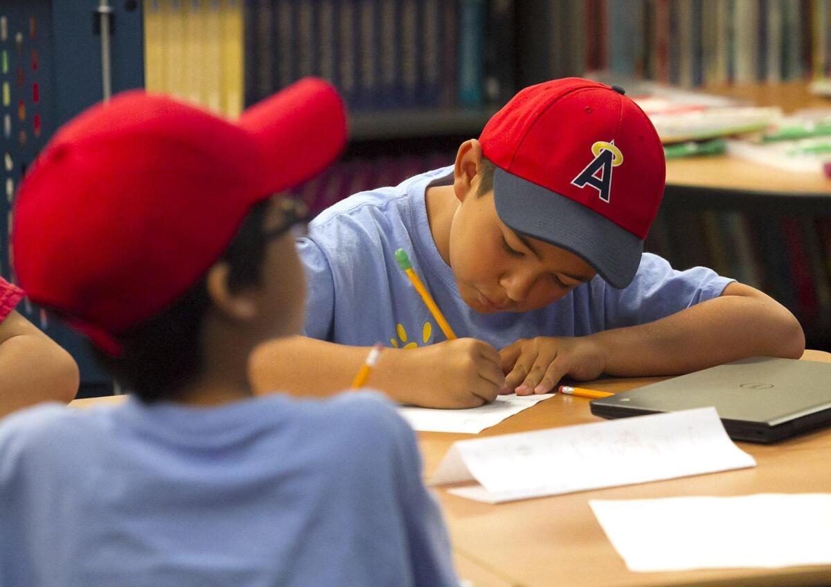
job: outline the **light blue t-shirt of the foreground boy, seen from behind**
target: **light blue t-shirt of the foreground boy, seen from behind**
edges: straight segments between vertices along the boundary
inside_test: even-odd
[[[413,432],[361,392],[12,414],[0,585],[458,582]]]

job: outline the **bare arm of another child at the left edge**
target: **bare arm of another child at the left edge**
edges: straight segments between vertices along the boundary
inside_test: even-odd
[[[77,389],[69,353],[17,312],[0,323],[0,416],[38,402],[70,402]]]

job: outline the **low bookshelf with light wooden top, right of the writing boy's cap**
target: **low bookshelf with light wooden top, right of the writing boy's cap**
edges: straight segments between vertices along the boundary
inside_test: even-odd
[[[831,107],[807,81],[709,86],[784,111]],[[683,267],[705,264],[768,293],[802,323],[809,348],[831,349],[831,179],[730,155],[667,161],[647,249]]]

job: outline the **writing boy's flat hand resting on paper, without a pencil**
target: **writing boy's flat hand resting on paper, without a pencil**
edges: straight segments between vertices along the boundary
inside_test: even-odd
[[[515,391],[520,396],[549,393],[566,375],[595,379],[606,368],[606,355],[591,337],[522,338],[499,355],[507,373],[500,393]]]

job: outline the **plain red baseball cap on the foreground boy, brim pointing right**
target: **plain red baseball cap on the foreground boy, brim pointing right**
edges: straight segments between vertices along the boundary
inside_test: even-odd
[[[316,175],[346,137],[340,97],[314,78],[238,121],[126,91],[62,126],[22,182],[17,279],[112,352],[219,259],[254,203]]]

